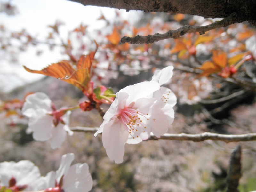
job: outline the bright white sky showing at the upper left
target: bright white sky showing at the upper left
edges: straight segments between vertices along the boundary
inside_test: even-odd
[[[0,0],[0,3],[8,0]],[[45,38],[48,36],[48,25],[53,25],[56,20],[65,23],[61,26],[60,34],[65,38],[67,31],[78,27],[81,23],[88,25],[88,31],[100,29],[105,23],[98,21],[101,12],[106,19],[112,20],[115,17],[115,9],[96,6],[83,6],[82,4],[67,0],[12,0],[11,4],[17,6],[19,13],[8,16],[0,13],[0,25],[4,25],[8,30],[21,31],[25,28],[31,35]],[[141,12],[119,10],[122,17],[130,22],[139,20]],[[44,49],[44,48],[42,48]],[[46,49],[46,47],[45,47]],[[0,59],[0,89],[9,92],[17,86],[33,82],[44,76],[32,74],[25,71],[22,65],[31,69],[42,69],[47,65],[63,59],[60,50],[44,51],[40,56],[36,56],[38,49],[29,48],[19,55],[19,64],[8,63]],[[49,49],[48,49],[49,50]]]

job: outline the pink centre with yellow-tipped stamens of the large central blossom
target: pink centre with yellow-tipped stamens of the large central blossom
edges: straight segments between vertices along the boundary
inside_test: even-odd
[[[145,132],[144,130],[147,128],[146,121],[149,120],[146,117],[147,115],[148,113],[146,114],[135,109],[125,107],[120,111],[118,118],[122,121],[125,129],[134,139],[132,132],[134,135],[136,135],[136,137],[139,137],[139,135],[136,133],[138,129],[140,129],[143,133]]]

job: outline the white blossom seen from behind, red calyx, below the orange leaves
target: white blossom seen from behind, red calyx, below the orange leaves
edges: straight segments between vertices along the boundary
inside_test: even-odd
[[[67,132],[73,134],[68,126],[70,113],[65,108],[56,110],[50,98],[42,92],[28,95],[22,108],[22,114],[29,118],[27,133],[33,132],[33,138],[38,141],[51,139],[53,149],[60,148]]]

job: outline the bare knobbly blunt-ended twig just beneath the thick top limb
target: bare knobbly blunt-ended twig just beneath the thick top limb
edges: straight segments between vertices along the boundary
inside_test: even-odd
[[[147,36],[137,35],[135,37],[124,36],[121,39],[121,42],[130,43],[130,44],[144,44],[144,43],[148,44],[148,43],[154,43],[156,41],[160,41],[163,39],[170,39],[170,38],[176,39],[177,37],[183,36],[186,33],[199,32],[200,35],[203,35],[206,31],[210,31],[216,28],[226,27],[236,22],[239,22],[237,20],[237,14],[232,13],[229,17],[226,17],[221,21],[216,21],[210,25],[206,25],[206,26],[185,25],[184,27],[181,27],[177,30],[170,30],[164,34],[156,33],[154,35],[147,35]]]

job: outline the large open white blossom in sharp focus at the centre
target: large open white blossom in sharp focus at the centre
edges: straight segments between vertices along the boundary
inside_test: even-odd
[[[102,132],[102,142],[110,160],[122,163],[125,143],[136,144],[168,131],[174,119],[171,105],[152,97],[160,90],[156,81],[127,86],[116,93],[116,99],[104,115],[103,123],[94,134]]]

